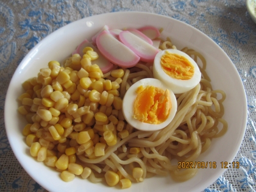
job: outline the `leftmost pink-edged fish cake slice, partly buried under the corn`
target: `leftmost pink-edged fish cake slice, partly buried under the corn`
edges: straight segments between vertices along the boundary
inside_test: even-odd
[[[83,49],[86,47],[91,47],[93,48],[93,51],[97,52],[99,55],[99,58],[96,60],[91,61],[91,64],[97,64],[99,68],[101,68],[102,73],[108,73],[113,68],[113,63],[111,63],[109,60],[105,59],[105,57],[101,54],[99,49],[97,49],[91,42],[88,40],[82,41],[82,43],[77,46],[76,50],[73,51],[74,54],[79,54],[81,57],[83,57],[84,52]]]

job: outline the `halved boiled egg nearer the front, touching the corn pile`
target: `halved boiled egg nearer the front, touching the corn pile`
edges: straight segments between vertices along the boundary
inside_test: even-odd
[[[124,95],[124,118],[139,130],[163,129],[172,121],[176,111],[174,93],[158,79],[141,79]]]

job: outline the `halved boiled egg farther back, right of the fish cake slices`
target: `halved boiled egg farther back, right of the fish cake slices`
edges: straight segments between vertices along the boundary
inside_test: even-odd
[[[155,55],[153,74],[154,78],[161,80],[174,94],[191,90],[201,80],[197,63],[177,49],[166,49]]]

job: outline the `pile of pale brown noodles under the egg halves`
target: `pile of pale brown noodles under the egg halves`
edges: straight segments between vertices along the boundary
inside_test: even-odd
[[[160,49],[176,49],[171,40],[162,40]],[[89,159],[79,155],[84,166],[93,170],[90,180],[97,183],[104,180],[105,171],[112,169],[120,171],[124,177],[132,182],[132,169],[143,169],[143,179],[154,175],[167,176],[172,179],[184,181],[193,177],[197,168],[179,169],[179,162],[194,162],[199,155],[206,151],[213,138],[221,137],[227,131],[227,123],[222,119],[224,108],[222,102],[226,94],[221,90],[213,90],[210,79],[205,73],[206,62],[199,52],[183,48],[195,62],[201,60],[201,82],[192,90],[176,94],[177,113],[171,123],[162,130],[144,132],[129,127],[129,137],[118,140],[115,146],[108,146],[105,155],[96,159]],[[117,67],[117,66],[116,66]],[[153,77],[152,66],[138,63],[135,67],[124,69],[125,74],[120,87],[120,96],[123,98],[126,90],[140,79]],[[113,79],[110,73],[104,78]],[[217,99],[218,98],[221,99]],[[222,124],[222,125],[221,125]],[[219,130],[218,127],[222,127]],[[130,147],[139,147],[141,152],[137,155],[129,154]],[[171,160],[176,159],[176,163]]]

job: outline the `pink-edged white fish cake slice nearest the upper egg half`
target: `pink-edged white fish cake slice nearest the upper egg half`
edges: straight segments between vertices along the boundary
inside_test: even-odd
[[[124,30],[119,34],[119,40],[128,48],[132,49],[143,62],[153,62],[155,55],[159,52],[159,49],[132,34],[128,30]]]

